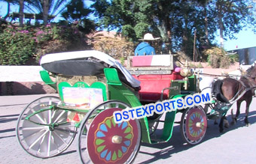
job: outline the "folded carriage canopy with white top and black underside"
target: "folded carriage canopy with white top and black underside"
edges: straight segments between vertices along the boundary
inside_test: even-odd
[[[103,73],[104,68],[117,69],[119,78],[126,85],[139,88],[139,80],[133,78],[128,70],[111,56],[96,50],[77,52],[61,52],[42,56],[41,67],[51,73],[70,76],[96,76]]]

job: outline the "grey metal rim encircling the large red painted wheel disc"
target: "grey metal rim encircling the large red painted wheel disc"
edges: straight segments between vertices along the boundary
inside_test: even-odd
[[[96,106],[93,110],[91,110],[90,112],[87,113],[87,115],[84,117],[84,120],[81,123],[81,127],[78,130],[78,153],[79,153],[82,163],[92,163],[92,161],[90,160],[90,156],[88,154],[87,142],[86,142],[87,141],[87,132],[90,128],[90,122],[91,122],[90,117],[92,115],[96,115],[97,109],[102,109],[102,110],[109,109],[110,104],[115,104],[115,106],[114,106],[115,108],[118,108],[118,106],[125,106],[125,108],[130,107],[126,103],[123,103],[123,102],[120,102],[117,100],[109,100],[109,101],[106,101],[106,102],[100,104],[99,106]],[[102,108],[102,107],[104,107],[104,108]],[[137,123],[137,127],[139,130],[138,139],[137,139],[137,142],[139,142],[139,144],[136,144],[133,154],[131,154],[130,158],[126,161],[126,163],[132,163],[133,160],[135,159],[137,153],[139,152],[140,141],[141,141],[141,128],[140,128],[140,124],[139,124],[138,120],[136,120],[136,123]]]

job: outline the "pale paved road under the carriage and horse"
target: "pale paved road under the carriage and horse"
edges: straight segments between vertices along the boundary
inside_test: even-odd
[[[76,152],[77,141],[64,153],[47,160],[27,154],[15,136],[17,118],[27,103],[45,95],[0,97],[0,163],[81,163]],[[251,104],[249,121],[244,127],[242,114],[235,126],[218,133],[218,126],[209,121],[206,137],[200,145],[191,147],[181,139],[179,126],[174,127],[170,142],[158,145],[142,144],[134,163],[255,163],[256,160],[256,99]],[[230,113],[228,113],[230,119]],[[177,119],[180,119],[177,115]]]

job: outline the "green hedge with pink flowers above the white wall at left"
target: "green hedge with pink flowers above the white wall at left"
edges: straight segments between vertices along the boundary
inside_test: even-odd
[[[26,64],[41,55],[86,49],[84,33],[75,25],[17,28],[6,26],[0,33],[0,65]]]

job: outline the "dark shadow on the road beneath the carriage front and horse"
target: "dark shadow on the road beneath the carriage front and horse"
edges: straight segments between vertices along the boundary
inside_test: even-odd
[[[236,130],[240,127],[245,127],[244,118],[245,118],[245,114],[240,114],[236,124],[233,126],[230,126],[229,128],[226,128],[224,130],[224,133],[230,132],[231,130]],[[231,115],[227,116],[227,120],[229,122],[232,121]],[[256,123],[256,111],[252,111],[249,113],[248,120],[250,124]],[[180,129],[179,125],[173,127],[172,139],[170,139],[169,142],[154,144],[154,145],[142,143],[142,146],[149,147],[149,148],[157,148],[160,150],[152,154],[145,151],[139,151],[140,154],[148,154],[152,157],[151,159],[145,160],[142,163],[153,163],[160,159],[167,159],[169,157],[172,157],[172,154],[176,154],[181,151],[186,151],[187,149],[192,148],[193,145],[187,145],[184,142],[184,140],[181,138],[181,133],[179,129]],[[218,125],[215,125],[214,121],[209,120],[208,128],[206,130],[206,136],[204,137],[203,142],[206,142],[210,139],[221,137],[224,133],[220,133],[218,130]]]

